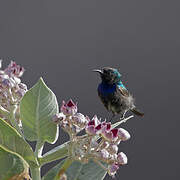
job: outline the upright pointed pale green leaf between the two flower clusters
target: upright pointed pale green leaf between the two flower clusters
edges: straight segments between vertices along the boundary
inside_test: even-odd
[[[40,78],[20,103],[20,117],[25,138],[29,141],[54,143],[59,134],[58,125],[52,122],[52,117],[56,113],[58,113],[56,96]]]

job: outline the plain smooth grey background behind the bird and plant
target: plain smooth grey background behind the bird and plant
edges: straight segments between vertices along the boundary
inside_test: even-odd
[[[116,179],[179,180],[179,18],[178,0],[1,0],[0,57],[26,68],[29,87],[43,76],[60,104],[73,98],[80,112],[103,118],[91,70],[119,68],[145,117],[123,125],[129,163]]]

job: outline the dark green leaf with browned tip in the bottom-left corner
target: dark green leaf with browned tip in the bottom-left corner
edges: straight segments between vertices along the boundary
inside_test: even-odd
[[[0,145],[0,179],[9,180],[28,173],[28,164],[16,153],[8,151]]]

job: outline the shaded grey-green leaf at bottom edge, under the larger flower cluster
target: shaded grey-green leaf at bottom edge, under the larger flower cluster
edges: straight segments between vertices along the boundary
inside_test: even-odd
[[[50,169],[42,180],[54,180],[64,162],[65,160]],[[102,180],[106,175],[106,171],[92,160],[87,164],[74,161],[65,174],[67,175],[68,180]]]

